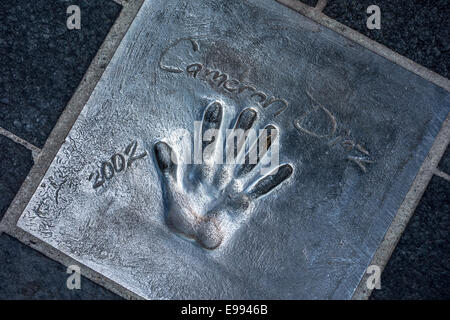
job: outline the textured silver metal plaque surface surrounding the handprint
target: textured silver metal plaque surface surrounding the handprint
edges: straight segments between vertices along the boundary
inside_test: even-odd
[[[278,128],[293,170],[242,207],[199,180],[187,203],[232,217],[208,246],[167,226],[178,200],[154,145],[181,153],[175,130],[214,102],[224,127],[252,108]],[[349,298],[449,110],[273,1],[146,1],[18,225],[146,298]]]

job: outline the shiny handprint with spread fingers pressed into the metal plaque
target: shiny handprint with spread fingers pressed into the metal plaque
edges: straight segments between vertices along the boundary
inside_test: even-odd
[[[223,107],[218,102],[206,108],[201,127],[202,137],[210,129],[224,131],[223,112]],[[256,118],[255,110],[244,109],[232,129],[244,132],[243,139],[248,139],[246,133],[253,127]],[[214,137],[202,143],[201,164],[181,164],[167,143],[159,141],[155,144],[154,156],[162,176],[165,221],[172,231],[196,241],[203,248],[215,249],[220,246],[229,230],[233,230],[233,226],[245,218],[244,214],[252,201],[267,194],[291,176],[292,166],[284,164],[262,178],[253,178],[255,168],[261,166],[261,158],[278,135],[278,130],[273,125],[268,125],[265,129],[264,132],[268,133],[260,134],[257,141],[248,148],[244,147],[245,143],[231,144],[234,148],[233,157],[237,159],[240,155],[245,159],[231,165],[214,163],[218,148],[222,147]],[[265,143],[265,147],[261,148],[261,143]],[[230,147],[227,145],[226,148]],[[255,152],[258,150],[263,151]],[[256,161],[249,161],[252,152],[257,154]]]

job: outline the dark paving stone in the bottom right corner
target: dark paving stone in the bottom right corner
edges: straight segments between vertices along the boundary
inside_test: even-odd
[[[433,176],[371,299],[450,299],[450,182]]]

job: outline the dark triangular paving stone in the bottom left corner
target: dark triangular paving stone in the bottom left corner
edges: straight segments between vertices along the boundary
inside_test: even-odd
[[[66,267],[6,234],[0,261],[0,299],[121,299],[84,277],[79,290],[69,290]]]

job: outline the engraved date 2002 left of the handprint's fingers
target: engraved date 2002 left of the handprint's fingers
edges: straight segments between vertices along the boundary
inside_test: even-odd
[[[99,188],[116,174],[127,171],[134,161],[146,157],[147,151],[136,154],[137,146],[137,141],[133,141],[125,148],[123,153],[116,153],[109,161],[103,161],[100,169],[89,175],[89,181],[92,181],[92,188]]]

